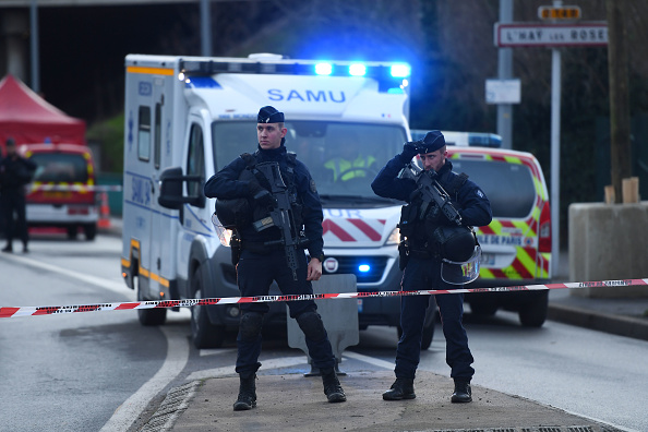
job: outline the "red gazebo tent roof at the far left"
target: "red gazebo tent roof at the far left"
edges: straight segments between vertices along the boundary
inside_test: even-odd
[[[11,136],[16,144],[55,143],[85,145],[85,121],[63,111],[34,93],[22,81],[7,75],[0,81],[0,146]]]

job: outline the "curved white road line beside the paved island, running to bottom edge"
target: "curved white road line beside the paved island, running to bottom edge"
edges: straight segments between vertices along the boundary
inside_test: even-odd
[[[128,430],[148,403],[161,392],[187,365],[189,341],[182,328],[160,327],[167,337],[167,358],[157,373],[129,397],[101,428],[101,432]]]

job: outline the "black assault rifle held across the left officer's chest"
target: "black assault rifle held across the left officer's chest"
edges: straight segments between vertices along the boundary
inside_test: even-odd
[[[281,239],[266,241],[265,245],[283,244],[286,251],[286,260],[288,266],[292,269],[292,279],[297,280],[297,268],[299,263],[297,261],[297,249],[304,245],[305,241],[300,239],[298,229],[295,225],[295,217],[292,215],[292,207],[290,206],[290,194],[288,188],[284,183],[281,173],[279,171],[279,164],[277,163],[261,163],[256,164],[256,169],[267,179],[274,199],[273,208],[269,216],[256,220],[253,226],[259,232],[266,228],[278,227],[281,231]]]

